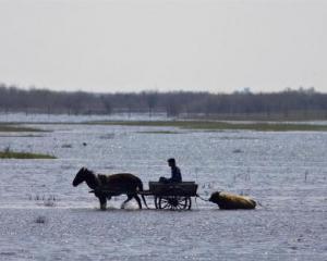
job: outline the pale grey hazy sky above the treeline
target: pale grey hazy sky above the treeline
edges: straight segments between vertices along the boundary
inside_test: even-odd
[[[325,0],[0,0],[0,83],[327,92]]]

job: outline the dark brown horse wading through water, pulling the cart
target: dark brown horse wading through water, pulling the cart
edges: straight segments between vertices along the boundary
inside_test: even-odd
[[[122,209],[132,198],[137,201],[138,208],[142,209],[137,191],[143,191],[143,183],[137,176],[131,173],[96,175],[93,171],[82,167],[73,181],[73,186],[76,187],[83,182],[86,182],[87,186],[93,189],[93,192],[99,199],[101,210],[106,210],[107,199],[110,200],[112,196],[122,194],[128,196],[128,199],[121,206]],[[143,195],[142,199],[146,208],[148,208]]]

